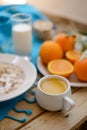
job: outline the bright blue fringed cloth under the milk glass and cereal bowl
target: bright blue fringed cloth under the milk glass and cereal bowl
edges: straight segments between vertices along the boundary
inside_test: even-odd
[[[0,6],[0,52],[2,53],[13,53],[14,54],[14,46],[12,42],[12,33],[11,33],[11,15],[15,13],[29,13],[32,15],[32,22],[35,20],[42,19],[47,20],[41,12],[39,12],[36,8],[31,5],[10,5],[10,6]],[[42,41],[39,41],[35,35],[33,34],[33,47],[32,47],[32,62],[36,65],[36,60],[38,57],[39,48],[41,46]],[[0,103],[0,120],[2,120],[7,116],[8,112],[14,108],[17,112],[20,112],[15,108],[15,105],[22,99],[25,99],[26,94],[22,94],[21,96]],[[26,101],[28,101],[26,99]],[[28,101],[29,102],[29,101]],[[34,101],[33,101],[34,102]],[[32,102],[29,102],[32,103]],[[26,111],[27,114],[31,114],[31,111]],[[9,117],[13,119],[13,117]],[[15,118],[15,120],[20,121]],[[25,118],[21,120],[21,122],[25,122]]]

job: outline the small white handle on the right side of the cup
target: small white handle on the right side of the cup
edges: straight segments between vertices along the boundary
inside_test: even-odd
[[[75,106],[75,102],[68,96],[64,97],[63,113],[66,116],[67,112]]]

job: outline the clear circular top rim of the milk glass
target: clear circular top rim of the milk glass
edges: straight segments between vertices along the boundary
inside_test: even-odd
[[[18,16],[28,16],[28,18],[17,18]],[[28,13],[16,13],[12,15],[11,19],[15,22],[25,22],[32,20],[32,16]]]

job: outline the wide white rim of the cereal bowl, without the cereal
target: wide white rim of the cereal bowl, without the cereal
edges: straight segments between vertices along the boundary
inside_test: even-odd
[[[26,61],[25,59],[17,55],[0,54],[0,62],[18,65],[23,69],[26,77],[22,86],[20,86],[17,90],[8,94],[1,95],[0,102],[15,98],[32,87],[33,83],[36,80],[37,71],[30,61]]]

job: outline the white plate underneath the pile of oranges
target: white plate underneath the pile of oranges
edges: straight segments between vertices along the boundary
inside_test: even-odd
[[[41,58],[37,58],[37,67],[38,70],[42,75],[48,75],[50,74],[47,70],[47,67],[42,63]],[[87,87],[87,82],[81,82],[75,74],[72,74],[68,80],[70,81],[70,84],[72,87]]]

